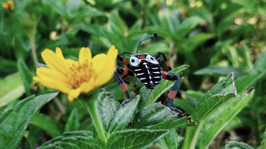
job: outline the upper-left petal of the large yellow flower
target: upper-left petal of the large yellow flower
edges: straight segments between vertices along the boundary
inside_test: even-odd
[[[59,50],[58,50],[59,51]],[[59,52],[58,52],[59,53]],[[64,57],[59,56],[52,50],[45,49],[41,52],[43,61],[48,65],[49,68],[57,70],[58,72],[67,75],[70,71],[69,66],[66,63]]]

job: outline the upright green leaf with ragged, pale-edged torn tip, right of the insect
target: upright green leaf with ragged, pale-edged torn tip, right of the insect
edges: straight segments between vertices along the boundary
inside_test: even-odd
[[[236,96],[236,90],[234,87],[233,74],[230,74],[212,87],[194,109],[191,117],[196,120],[199,125],[187,128],[183,149],[195,148],[203,124],[205,124],[216,109],[234,96]]]

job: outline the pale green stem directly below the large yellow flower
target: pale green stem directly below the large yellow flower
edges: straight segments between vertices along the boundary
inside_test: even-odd
[[[99,138],[104,142],[107,143],[107,139],[106,136],[104,135],[104,130],[103,130],[103,126],[100,123],[100,117],[99,117],[99,113],[96,109],[96,105],[95,105],[95,100],[91,100],[90,103],[88,104],[88,111],[91,115],[93,124],[96,128],[96,131],[99,135]]]

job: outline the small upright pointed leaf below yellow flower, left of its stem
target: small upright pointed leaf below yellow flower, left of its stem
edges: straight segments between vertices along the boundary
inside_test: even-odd
[[[69,115],[66,126],[65,126],[65,132],[66,131],[76,131],[79,129],[79,122],[78,122],[78,111],[76,108],[74,108],[71,111],[71,114]]]

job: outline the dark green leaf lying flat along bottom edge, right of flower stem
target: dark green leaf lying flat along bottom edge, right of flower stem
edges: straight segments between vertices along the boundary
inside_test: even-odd
[[[168,130],[128,129],[113,133],[107,140],[107,149],[145,149],[168,133]]]

